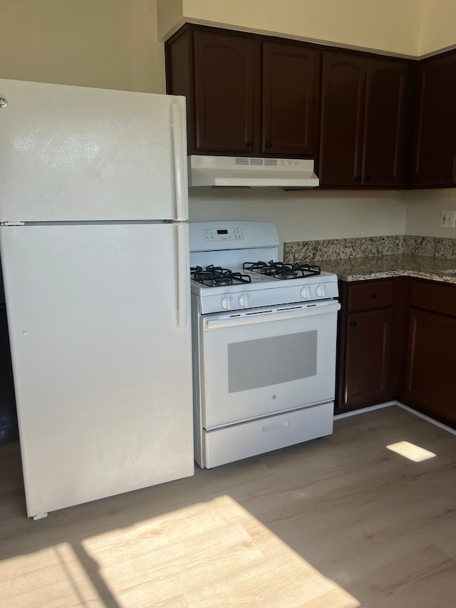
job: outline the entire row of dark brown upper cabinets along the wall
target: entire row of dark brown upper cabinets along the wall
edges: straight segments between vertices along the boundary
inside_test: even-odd
[[[327,188],[456,186],[456,51],[408,61],[186,24],[165,58],[190,154],[313,158]]]

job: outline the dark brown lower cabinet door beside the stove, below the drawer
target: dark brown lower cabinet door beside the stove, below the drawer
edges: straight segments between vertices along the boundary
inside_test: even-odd
[[[392,309],[348,314],[343,408],[387,401]]]

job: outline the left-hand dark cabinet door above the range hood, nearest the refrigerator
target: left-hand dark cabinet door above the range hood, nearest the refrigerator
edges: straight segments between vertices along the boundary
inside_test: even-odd
[[[259,143],[259,42],[194,33],[195,151],[248,153]]]

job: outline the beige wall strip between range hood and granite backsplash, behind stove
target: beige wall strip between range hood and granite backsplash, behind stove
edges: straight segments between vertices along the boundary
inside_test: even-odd
[[[284,241],[403,235],[404,192],[191,188],[190,220],[274,222]]]

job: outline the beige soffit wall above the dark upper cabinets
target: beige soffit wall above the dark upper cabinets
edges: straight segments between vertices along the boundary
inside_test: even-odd
[[[422,1],[158,0],[158,35],[165,39],[184,21],[190,21],[388,54],[418,56]],[[451,0],[429,1],[450,4]],[[453,16],[455,14],[453,11]]]

